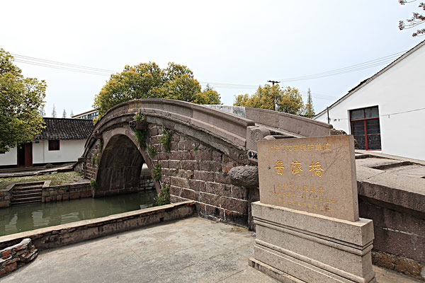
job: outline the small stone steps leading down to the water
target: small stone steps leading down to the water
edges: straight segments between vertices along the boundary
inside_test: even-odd
[[[11,205],[41,202],[44,181],[21,183],[13,187]]]

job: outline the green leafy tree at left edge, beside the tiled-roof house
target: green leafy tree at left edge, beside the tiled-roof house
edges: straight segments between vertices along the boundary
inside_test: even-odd
[[[0,48],[0,151],[32,141],[44,122],[45,81],[25,78],[13,56]]]

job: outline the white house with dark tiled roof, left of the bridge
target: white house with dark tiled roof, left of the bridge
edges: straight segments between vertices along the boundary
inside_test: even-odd
[[[91,120],[43,118],[45,129],[34,141],[0,154],[1,167],[37,166],[46,163],[75,162],[93,130]]]

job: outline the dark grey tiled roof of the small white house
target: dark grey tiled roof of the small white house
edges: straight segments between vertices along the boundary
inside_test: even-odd
[[[35,139],[87,139],[93,130],[93,120],[43,118],[46,127]]]

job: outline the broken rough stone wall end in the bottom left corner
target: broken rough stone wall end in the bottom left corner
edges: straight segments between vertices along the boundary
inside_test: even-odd
[[[0,277],[18,269],[23,263],[30,262],[38,255],[30,238],[24,238],[21,243],[0,250]]]

